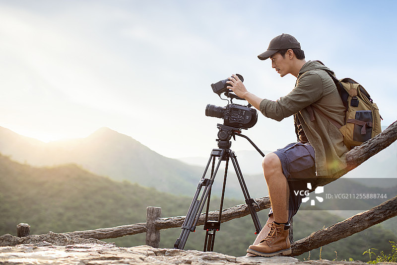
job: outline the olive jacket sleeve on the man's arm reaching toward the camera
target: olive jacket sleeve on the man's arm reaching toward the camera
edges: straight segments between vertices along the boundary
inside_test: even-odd
[[[317,73],[307,72],[297,81],[296,87],[276,101],[263,99],[260,110],[266,117],[281,121],[316,102],[323,95],[323,81]]]

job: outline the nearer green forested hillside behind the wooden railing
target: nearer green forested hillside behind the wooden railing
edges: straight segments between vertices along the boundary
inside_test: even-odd
[[[75,165],[37,168],[21,165],[0,155],[0,235],[15,235],[16,225],[31,225],[31,234],[56,233],[114,227],[145,222],[146,207],[162,208],[162,217],[185,215],[190,197],[176,196],[142,187],[129,181],[115,181],[89,173]],[[219,202],[219,198],[217,201]],[[225,199],[224,206],[240,202]],[[216,203],[211,209],[216,209]],[[258,213],[264,224],[267,210]],[[294,238],[310,235],[313,231],[329,226],[342,218],[327,211],[302,209],[294,217]],[[254,225],[250,216],[223,223],[216,233],[214,251],[243,256],[254,241]],[[161,248],[172,248],[180,228],[161,230]],[[185,249],[202,250],[205,231],[199,226],[191,233]],[[324,246],[323,259],[353,258],[362,260],[368,248],[390,249],[388,240],[396,241],[396,235],[382,225],[338,242]],[[145,244],[145,234],[109,239],[117,246],[131,247]],[[227,244],[224,244],[227,242]],[[354,246],[354,247],[351,247]],[[301,256],[307,259],[308,253]],[[311,259],[319,258],[319,250],[311,252]]]

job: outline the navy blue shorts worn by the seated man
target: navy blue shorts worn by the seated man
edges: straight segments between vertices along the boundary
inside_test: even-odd
[[[310,178],[316,177],[314,149],[310,144],[292,143],[273,152],[281,161],[282,172],[289,186],[288,222],[299,209],[302,199],[306,197],[302,190],[307,187]],[[296,194],[298,193],[298,194]],[[273,213],[270,208],[269,215]]]

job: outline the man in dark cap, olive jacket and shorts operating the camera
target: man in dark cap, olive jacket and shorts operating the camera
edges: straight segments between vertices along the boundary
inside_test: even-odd
[[[282,120],[294,115],[297,143],[269,153],[263,160],[271,209],[269,218],[247,252],[272,257],[291,253],[289,221],[296,214],[310,178],[331,176],[346,167],[343,136],[330,120],[344,122],[344,106],[329,70],[319,62],[305,60],[300,43],[291,35],[281,34],[270,41],[267,51],[258,56],[270,58],[271,67],[281,77],[297,78],[295,88],[276,101],[250,93],[236,75],[227,83],[266,117]]]

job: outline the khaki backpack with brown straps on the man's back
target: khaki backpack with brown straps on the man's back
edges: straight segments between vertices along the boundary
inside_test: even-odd
[[[344,144],[347,148],[351,150],[355,146],[359,146],[381,133],[382,117],[379,114],[378,106],[372,101],[365,88],[350,78],[338,80],[332,72],[325,71],[335,83],[339,95],[342,98],[343,105],[346,108],[344,125],[340,126],[318,108],[312,105],[310,107],[326,117],[339,129],[343,135]],[[309,112],[311,112],[310,109]]]

